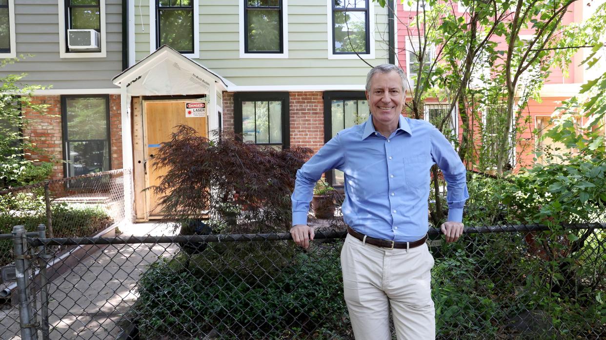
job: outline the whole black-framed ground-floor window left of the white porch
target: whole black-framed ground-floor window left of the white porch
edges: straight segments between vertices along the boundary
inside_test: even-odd
[[[108,95],[61,96],[65,176],[111,169]]]

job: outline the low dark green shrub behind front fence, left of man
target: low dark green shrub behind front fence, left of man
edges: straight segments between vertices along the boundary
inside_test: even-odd
[[[259,246],[257,242],[247,243]],[[139,281],[139,299],[133,313],[138,316],[140,336],[203,338],[215,330],[221,339],[304,335],[339,339],[336,335],[350,333],[345,322],[339,249],[298,253],[275,275],[265,276],[252,275],[267,270],[262,259],[258,268],[242,270],[247,266],[231,267],[227,261],[233,256],[225,256],[224,264],[220,260],[209,262],[219,265],[210,270],[210,265],[184,267],[182,259],[163,258],[152,264]],[[244,252],[240,255],[243,264],[254,260]],[[267,261],[275,260],[275,255],[268,253]]]

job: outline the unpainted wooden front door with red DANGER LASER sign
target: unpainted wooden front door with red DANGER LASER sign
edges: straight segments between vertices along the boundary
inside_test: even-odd
[[[165,101],[143,101],[142,108],[142,164],[145,176],[135,175],[135,202],[137,207],[137,219],[158,219],[162,217],[159,198],[153,190],[145,190],[137,193],[137,181],[144,179],[145,188],[152,185],[158,185],[161,176],[168,172],[168,168],[154,168],[154,155],[158,152],[162,142],[170,140],[171,133],[176,131],[178,125],[189,125],[195,128],[201,136],[208,137],[208,114],[205,116],[193,115],[188,113],[186,104],[191,102],[201,102],[200,99],[181,99]],[[191,110],[190,110],[191,111]],[[133,116],[136,119],[136,116]],[[136,124],[135,124],[136,125]],[[136,138],[133,133],[133,139]],[[135,148],[135,153],[137,150]],[[135,158],[136,155],[135,155]],[[141,168],[141,167],[139,167]],[[139,197],[137,197],[139,195]],[[144,202],[141,202],[143,200]],[[139,210],[145,210],[143,214]]]

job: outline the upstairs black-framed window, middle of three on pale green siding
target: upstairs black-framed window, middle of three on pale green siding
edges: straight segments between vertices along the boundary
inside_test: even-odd
[[[283,53],[282,0],[244,1],[244,52]]]

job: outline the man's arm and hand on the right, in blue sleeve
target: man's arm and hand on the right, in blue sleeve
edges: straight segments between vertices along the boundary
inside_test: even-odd
[[[454,242],[463,233],[463,207],[469,198],[467,170],[450,142],[437,128],[431,130],[431,156],[444,174],[447,183],[448,219],[442,224],[446,242]]]

